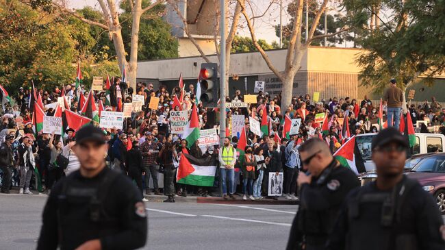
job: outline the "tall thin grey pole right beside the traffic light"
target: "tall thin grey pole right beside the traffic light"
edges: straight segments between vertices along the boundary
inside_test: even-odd
[[[225,114],[225,82],[226,82],[226,32],[225,32],[225,16],[226,4],[225,0],[220,0],[221,20],[220,20],[220,120],[219,120],[219,137],[220,149],[223,148],[223,141],[226,136],[226,114]]]

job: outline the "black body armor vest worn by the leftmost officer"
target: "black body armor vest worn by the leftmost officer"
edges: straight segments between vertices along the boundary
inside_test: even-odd
[[[58,236],[62,250],[64,246],[79,245],[119,230],[118,209],[106,208],[104,201],[120,173],[107,171],[100,185],[95,187],[86,187],[74,175],[66,177],[58,195]]]

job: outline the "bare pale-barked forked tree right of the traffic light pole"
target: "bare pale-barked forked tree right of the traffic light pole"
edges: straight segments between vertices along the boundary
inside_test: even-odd
[[[281,92],[281,103],[283,105],[288,105],[291,102],[292,99],[292,86],[294,82],[294,77],[296,72],[301,68],[301,60],[303,59],[303,55],[307,51],[307,47],[312,44],[312,42],[319,40],[321,38],[329,38],[333,36],[337,36],[338,34],[342,34],[343,32],[346,32],[348,27],[348,21],[344,22],[344,27],[340,29],[336,29],[335,32],[330,34],[323,34],[323,35],[316,35],[316,29],[318,29],[320,25],[320,18],[322,14],[327,9],[327,3],[328,0],[323,0],[321,4],[317,4],[314,12],[314,18],[311,22],[309,22],[309,33],[307,34],[307,40],[303,41],[302,36],[302,27],[303,27],[303,9],[304,9],[304,1],[298,0],[294,3],[294,7],[292,7],[292,16],[294,16],[294,21],[292,22],[292,29],[289,36],[289,42],[288,42],[288,51],[286,53],[285,58],[285,67],[284,71],[279,71],[278,68],[275,67],[275,65],[272,64],[270,61],[270,58],[262,49],[262,47],[257,42],[256,34],[255,34],[255,28],[252,24],[252,18],[249,16],[246,10],[246,5],[244,1],[238,0],[238,3],[241,6],[241,13],[244,16],[244,19],[246,20],[247,27],[249,28],[249,32],[251,33],[252,40],[254,42],[255,47],[259,51],[259,53],[262,55],[262,58],[266,62],[267,66],[270,68],[270,70],[281,80],[281,83],[283,84],[283,91]],[[281,111],[284,113],[285,108],[282,108]]]

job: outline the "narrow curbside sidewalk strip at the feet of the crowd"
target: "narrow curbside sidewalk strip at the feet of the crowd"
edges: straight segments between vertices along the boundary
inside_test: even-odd
[[[144,195],[149,202],[162,202],[167,199],[164,195]],[[298,205],[299,201],[287,200],[284,197],[279,197],[277,201],[273,199],[260,199],[251,201],[247,199],[244,201],[242,196],[235,196],[236,199],[223,199],[221,197],[199,197],[199,196],[188,196],[188,197],[175,197],[176,202],[186,202],[186,203],[216,203],[216,204],[249,204],[249,205]]]

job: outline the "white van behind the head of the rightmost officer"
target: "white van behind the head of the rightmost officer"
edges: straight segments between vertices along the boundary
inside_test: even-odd
[[[375,164],[371,160],[371,143],[372,138],[377,133],[370,134],[359,134],[355,136],[357,142],[357,147],[361,153],[361,158],[363,158],[365,163],[366,171],[372,171],[375,169]],[[435,152],[445,152],[445,136],[443,134],[426,134],[426,133],[416,133],[416,144],[412,148],[411,155],[417,153],[435,153]]]

